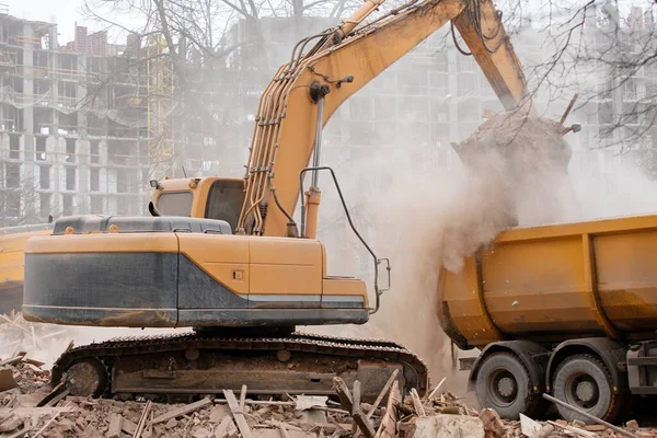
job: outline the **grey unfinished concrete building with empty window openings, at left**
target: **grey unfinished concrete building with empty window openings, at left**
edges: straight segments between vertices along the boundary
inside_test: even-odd
[[[0,15],[1,226],[142,206],[145,69],[106,33]],[[134,66],[129,65],[134,64]]]

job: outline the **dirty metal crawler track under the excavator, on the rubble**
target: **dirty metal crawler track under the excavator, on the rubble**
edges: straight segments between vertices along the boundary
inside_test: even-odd
[[[250,395],[334,394],[333,377],[361,382],[362,401],[377,397],[394,369],[404,392],[424,394],[426,365],[383,339],[292,333],[226,337],[200,333],[113,338],[64,353],[53,385],[64,379],[73,395],[148,397],[169,402],[239,391]]]

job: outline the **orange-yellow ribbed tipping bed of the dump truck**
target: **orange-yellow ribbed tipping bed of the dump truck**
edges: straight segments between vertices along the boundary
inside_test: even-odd
[[[514,229],[440,272],[439,316],[468,349],[504,339],[648,339],[657,330],[657,215]]]

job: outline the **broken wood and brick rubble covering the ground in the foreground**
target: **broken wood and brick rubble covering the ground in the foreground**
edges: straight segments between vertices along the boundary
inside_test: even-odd
[[[360,382],[334,379],[335,396],[290,396],[263,400],[224,390],[218,397],[187,404],[149,400],[117,401],[68,395],[64,385],[48,385],[49,372],[19,353],[0,362],[15,385],[0,392],[0,437],[172,437],[172,438],[612,438],[622,435],[601,425],[563,420],[502,420],[481,413],[456,395],[438,390],[423,397],[401,396],[397,372],[373,403],[361,403]],[[626,425],[630,436],[657,437],[654,429]]]

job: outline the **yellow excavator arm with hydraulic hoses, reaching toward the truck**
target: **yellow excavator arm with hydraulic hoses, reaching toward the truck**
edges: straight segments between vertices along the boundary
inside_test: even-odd
[[[300,195],[299,173],[321,128],[343,102],[450,21],[503,105],[529,107],[522,66],[492,1],[411,1],[361,24],[379,4],[368,1],[341,26],[316,35],[319,42],[307,53],[313,37],[300,42],[266,88],[250,148],[239,233],[286,235]]]

